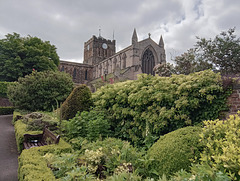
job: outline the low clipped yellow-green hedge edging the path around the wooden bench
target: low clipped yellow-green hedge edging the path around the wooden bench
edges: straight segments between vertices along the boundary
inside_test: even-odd
[[[14,112],[13,123],[15,127],[15,136],[19,152],[21,152],[23,149],[24,134],[42,133],[42,131],[27,131],[27,124],[25,124],[22,119],[16,119],[16,117],[20,116],[21,114],[19,112]],[[58,144],[51,144],[23,150],[18,159],[19,181],[55,180],[53,172],[50,168],[47,167],[47,162],[44,159],[44,155],[46,153],[62,153],[71,151],[71,145],[65,142],[62,138]]]

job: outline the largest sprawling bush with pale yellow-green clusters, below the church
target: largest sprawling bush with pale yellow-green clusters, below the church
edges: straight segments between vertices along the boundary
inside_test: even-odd
[[[215,119],[226,107],[221,76],[210,70],[107,85],[93,94],[106,111],[116,137],[147,147],[178,128]]]

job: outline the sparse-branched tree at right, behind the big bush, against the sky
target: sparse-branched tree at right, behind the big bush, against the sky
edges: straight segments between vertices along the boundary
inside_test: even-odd
[[[197,37],[195,48],[175,57],[175,71],[190,74],[206,69],[222,74],[240,73],[240,39],[235,28],[220,33],[213,40]]]

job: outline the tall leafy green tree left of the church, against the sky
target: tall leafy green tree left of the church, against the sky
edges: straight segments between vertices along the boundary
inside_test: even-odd
[[[56,47],[37,37],[13,33],[0,40],[0,81],[16,81],[32,72],[57,70]]]

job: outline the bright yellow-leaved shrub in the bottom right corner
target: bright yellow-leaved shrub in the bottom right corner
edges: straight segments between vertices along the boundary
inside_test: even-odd
[[[227,120],[204,121],[201,142],[206,145],[201,161],[216,170],[226,172],[232,179],[240,179],[240,117]]]

